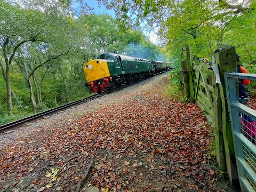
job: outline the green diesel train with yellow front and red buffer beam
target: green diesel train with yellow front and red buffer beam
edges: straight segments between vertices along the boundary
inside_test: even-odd
[[[153,76],[167,70],[168,62],[150,61],[120,55],[102,53],[97,59],[91,60],[84,66],[87,85],[93,92],[100,93],[106,89],[113,89],[125,83]]]

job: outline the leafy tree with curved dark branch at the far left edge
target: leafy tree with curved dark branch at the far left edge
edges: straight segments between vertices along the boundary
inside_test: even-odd
[[[61,5],[59,4],[59,6]],[[60,12],[62,9],[59,8],[56,5],[49,6],[45,7],[43,12],[42,10],[29,9],[29,7],[21,8],[18,4],[0,2],[1,21],[3,23],[0,28],[0,51],[5,65],[3,63],[0,64],[6,82],[7,110],[9,113],[11,113],[12,109],[10,67],[13,65],[17,53],[22,50],[21,48],[26,47],[30,43],[40,44],[40,42],[44,42],[45,44],[41,45],[46,46],[46,50],[52,49],[52,47],[58,50],[57,47],[65,47],[65,45],[71,42],[71,36],[67,30],[65,30],[67,33],[62,35],[58,33],[60,28],[70,29],[71,26],[71,23],[64,17],[65,15],[63,16],[62,12]],[[31,74],[27,76],[27,81],[29,81],[31,76],[34,77],[34,72],[37,68],[68,52],[65,49],[60,50],[63,52],[59,53],[59,55],[54,55],[35,66]],[[26,54],[29,53],[26,52]]]

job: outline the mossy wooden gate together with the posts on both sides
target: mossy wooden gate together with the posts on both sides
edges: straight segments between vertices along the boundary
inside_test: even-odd
[[[221,45],[212,52],[211,62],[198,63],[191,58],[190,46],[183,47],[181,82],[188,100],[196,102],[207,119],[214,123],[215,152],[220,170],[227,171],[231,185],[239,188],[235,149],[228,113],[224,73],[236,72],[234,46]],[[216,75],[217,74],[217,75]],[[218,80],[218,81],[217,81]]]

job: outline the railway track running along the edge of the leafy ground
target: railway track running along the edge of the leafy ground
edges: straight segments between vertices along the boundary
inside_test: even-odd
[[[168,71],[168,70],[166,70],[166,71]],[[166,71],[163,71],[162,73],[164,73]],[[150,77],[148,77],[148,78],[150,78]],[[112,93],[114,91],[124,89],[127,86],[131,86],[131,85],[137,84],[137,83],[142,82],[142,81],[144,81],[144,80],[146,80],[148,78],[144,78],[144,79],[141,79],[141,80],[139,80],[137,82],[132,82],[132,83],[129,83],[129,84],[126,84],[126,85],[122,85],[121,87],[117,87],[114,90],[105,91],[105,92],[102,92],[100,94],[95,94],[95,95],[92,95],[90,97],[87,97],[87,98],[84,98],[84,99],[81,99],[81,100],[73,101],[73,102],[67,103],[66,105],[55,107],[53,109],[46,110],[46,111],[43,111],[41,113],[38,113],[38,114],[35,114],[35,115],[31,115],[31,116],[28,116],[28,117],[25,117],[25,118],[22,118],[22,119],[19,119],[18,121],[14,121],[14,122],[11,122],[11,123],[7,123],[7,124],[4,124],[4,125],[1,125],[0,126],[0,134],[4,133],[4,132],[7,132],[7,131],[14,130],[15,128],[17,128],[19,126],[27,125],[27,124],[29,124],[31,122],[34,122],[34,121],[38,120],[38,119],[47,118],[47,117],[49,117],[49,116],[51,116],[51,115],[53,115],[55,113],[59,113],[60,111],[66,110],[66,109],[68,109],[70,107],[77,106],[77,105],[79,105],[81,103],[85,103],[87,101],[91,101],[91,100],[97,99],[99,97],[102,97],[103,95]]]

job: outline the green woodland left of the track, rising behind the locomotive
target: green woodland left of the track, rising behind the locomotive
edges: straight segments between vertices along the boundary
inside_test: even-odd
[[[5,77],[0,76],[0,124],[89,96],[83,66],[99,53],[134,57],[140,53],[143,58],[156,60],[163,51],[141,30],[120,30],[122,21],[110,15],[83,14],[75,19],[69,1],[49,4],[44,0],[26,0],[18,4],[1,0],[0,5],[0,66],[3,76],[10,67],[11,91],[15,94],[13,115],[9,116]],[[13,60],[6,65],[4,57],[10,59],[11,55]]]

